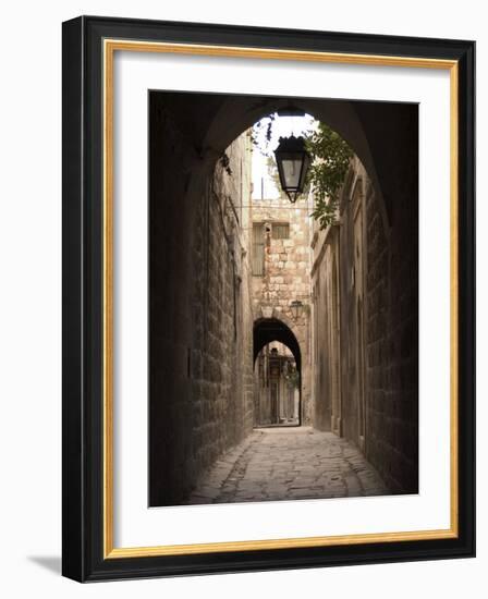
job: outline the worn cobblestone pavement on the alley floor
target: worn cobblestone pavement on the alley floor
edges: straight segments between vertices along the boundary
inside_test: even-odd
[[[186,504],[388,494],[352,443],[309,427],[255,429],[200,480]]]

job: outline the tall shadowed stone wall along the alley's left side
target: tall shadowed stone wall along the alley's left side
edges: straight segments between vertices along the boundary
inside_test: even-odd
[[[161,95],[150,122],[149,502],[170,505],[253,426],[251,140],[205,170]]]

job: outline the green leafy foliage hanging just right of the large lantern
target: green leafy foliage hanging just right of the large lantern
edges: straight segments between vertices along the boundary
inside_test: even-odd
[[[349,145],[325,123],[305,136],[305,146],[312,156],[308,183],[314,186],[315,209],[312,217],[320,229],[335,222],[338,194],[342,187],[353,151]]]

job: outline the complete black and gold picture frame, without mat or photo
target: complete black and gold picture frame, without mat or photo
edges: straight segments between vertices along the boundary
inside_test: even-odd
[[[292,60],[297,70],[314,62],[449,73],[450,526],[208,543],[168,545],[161,538],[154,547],[114,543],[113,58],[120,51]],[[63,23],[64,576],[91,582],[474,557],[474,119],[473,41],[97,16]]]

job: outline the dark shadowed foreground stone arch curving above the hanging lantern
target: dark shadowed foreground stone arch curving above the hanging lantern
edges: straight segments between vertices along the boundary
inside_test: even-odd
[[[185,164],[166,164],[168,173],[183,170],[188,198],[202,198],[217,160],[229,145],[260,118],[280,108],[304,110],[329,124],[353,148],[366,169],[377,200],[383,205],[388,231],[402,219],[399,196],[417,178],[417,113],[408,103],[328,98],[230,94],[151,93],[152,108],[186,142]],[[391,151],[395,148],[395,151]],[[196,198],[197,196],[197,198]]]

